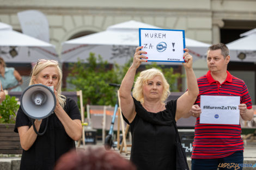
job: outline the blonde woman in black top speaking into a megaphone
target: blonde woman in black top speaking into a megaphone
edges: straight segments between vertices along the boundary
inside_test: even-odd
[[[62,71],[55,60],[38,60],[31,73],[29,85],[53,86],[56,108],[48,117],[48,127],[42,136],[36,135],[31,118],[21,107],[17,112],[14,131],[19,133],[23,153],[20,169],[53,169],[58,158],[75,148],[75,140],[82,135],[81,115],[75,101],[61,93]],[[39,133],[45,129],[46,119],[34,121]]]

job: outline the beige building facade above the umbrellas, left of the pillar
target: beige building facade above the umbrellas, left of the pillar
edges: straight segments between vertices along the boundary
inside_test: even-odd
[[[185,29],[186,36],[211,43],[210,1],[2,1],[0,20],[20,29],[17,12],[42,11],[50,24],[50,41],[60,52],[60,43],[72,35],[129,20],[162,28]]]

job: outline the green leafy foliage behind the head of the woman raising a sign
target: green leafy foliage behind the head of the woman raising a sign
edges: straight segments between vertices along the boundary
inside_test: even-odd
[[[133,58],[123,67],[117,64],[113,66],[109,65],[107,61],[103,61],[100,55],[96,57],[94,53],[90,53],[87,63],[78,60],[72,65],[68,82],[75,85],[76,90],[82,90],[84,105],[114,105],[117,100],[118,89],[108,84],[120,84],[131,66],[132,60]],[[163,72],[170,85],[170,91],[178,91],[177,79],[184,75],[174,73],[172,67],[164,68],[164,66],[156,65],[156,63],[145,65],[146,69],[152,67],[159,68]],[[136,77],[138,75],[139,73],[136,74]]]

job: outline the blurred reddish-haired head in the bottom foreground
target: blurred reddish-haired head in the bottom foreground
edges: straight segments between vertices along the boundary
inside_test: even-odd
[[[71,150],[57,161],[54,170],[136,170],[129,160],[105,148]]]

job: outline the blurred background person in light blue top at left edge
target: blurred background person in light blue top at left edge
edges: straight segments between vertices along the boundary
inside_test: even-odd
[[[4,60],[0,57],[0,80],[4,90],[22,91],[22,78],[13,67],[6,67]]]

